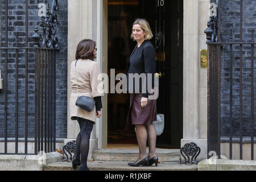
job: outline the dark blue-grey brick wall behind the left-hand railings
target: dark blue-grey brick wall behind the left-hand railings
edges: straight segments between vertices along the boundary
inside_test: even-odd
[[[26,1],[28,1],[28,47],[33,47],[35,26],[40,30],[38,16],[38,4],[52,1],[43,0],[8,0],[9,2],[9,47],[15,46],[16,31],[19,31],[19,47],[26,47]],[[59,39],[60,52],[56,55],[56,137],[67,138],[67,36],[68,36],[68,2],[59,0],[59,10],[57,13],[58,26],[55,36]],[[1,0],[1,46],[5,47],[5,0]],[[8,58],[8,137],[15,135],[15,51],[9,51]],[[28,137],[34,137],[35,121],[35,53],[28,54]],[[24,137],[24,73],[25,73],[24,51],[19,52],[19,137]],[[1,52],[1,76],[5,77],[5,52]],[[5,86],[5,83],[4,85]],[[0,138],[4,137],[4,109],[5,96],[0,90]]]

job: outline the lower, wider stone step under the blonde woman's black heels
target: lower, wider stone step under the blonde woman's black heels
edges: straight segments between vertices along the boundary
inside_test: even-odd
[[[177,162],[160,162],[149,167],[130,167],[126,161],[93,161],[88,162],[90,171],[197,171],[195,164],[179,164]],[[77,166],[77,170],[79,166]],[[43,166],[43,171],[72,171],[71,162],[56,162]]]

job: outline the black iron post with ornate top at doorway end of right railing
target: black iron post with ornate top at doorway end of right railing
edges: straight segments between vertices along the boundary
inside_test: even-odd
[[[220,158],[220,44],[211,44],[218,42],[220,39],[220,5],[221,2],[215,3],[217,14],[210,16],[205,30],[208,44],[208,129],[207,129],[207,156],[210,151],[216,152]]]

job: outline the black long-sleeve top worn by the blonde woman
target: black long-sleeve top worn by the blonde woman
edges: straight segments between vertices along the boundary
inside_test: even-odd
[[[126,66],[126,77],[127,77],[127,91],[130,93],[133,91],[139,91],[142,92],[143,90],[146,90],[146,93],[142,92],[142,97],[148,97],[150,93],[148,93],[147,90],[147,73],[152,73],[152,88],[154,88],[154,74],[156,69],[156,60],[155,60],[155,48],[151,44],[150,40],[144,40],[144,42],[141,44],[140,47],[138,47],[138,44],[136,48],[134,49],[133,53],[131,53],[130,61]],[[131,81],[133,81],[133,90],[129,88],[129,73],[138,73],[139,75],[141,73],[146,74],[146,84],[142,82],[142,79],[139,80],[139,88],[135,89],[135,78]],[[142,86],[143,85],[143,86]],[[142,89],[143,87],[143,89]],[[146,87],[146,88],[145,88]],[[138,90],[139,89],[139,90]]]

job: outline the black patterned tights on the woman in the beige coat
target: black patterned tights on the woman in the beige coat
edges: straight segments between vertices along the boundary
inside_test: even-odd
[[[79,117],[77,117],[77,121],[79,122],[80,133],[77,135],[76,138],[76,151],[74,160],[77,161],[80,159],[81,165],[79,170],[89,171],[87,167],[87,158],[89,152],[90,133],[93,129],[93,121]]]

